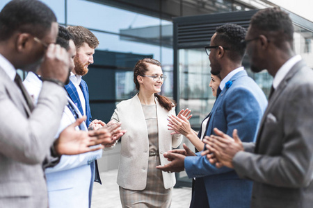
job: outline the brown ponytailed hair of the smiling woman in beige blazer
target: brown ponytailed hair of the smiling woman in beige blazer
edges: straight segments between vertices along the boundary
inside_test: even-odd
[[[141,86],[138,83],[137,76],[144,76],[145,73],[148,71],[147,68],[149,64],[154,64],[161,67],[161,63],[153,58],[144,58],[138,60],[134,67],[134,83],[136,85],[136,89],[138,90],[140,89]],[[157,97],[160,105],[168,111],[172,110],[172,107],[176,106],[175,101],[172,101],[170,98],[167,98],[166,96],[161,96],[157,93],[154,93],[154,96]]]

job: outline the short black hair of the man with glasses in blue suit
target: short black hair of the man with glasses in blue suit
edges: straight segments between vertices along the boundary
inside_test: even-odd
[[[236,24],[224,24],[216,28],[214,42],[227,47],[230,60],[241,61],[245,55],[246,46],[241,42],[246,37],[246,29]]]

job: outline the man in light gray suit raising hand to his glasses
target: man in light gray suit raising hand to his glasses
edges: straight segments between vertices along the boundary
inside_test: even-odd
[[[40,1],[13,0],[0,12],[0,207],[47,207],[42,166],[101,142],[91,137],[100,132],[74,130],[85,118],[54,141],[69,74],[68,54],[54,44],[57,34],[54,12]],[[43,84],[34,107],[16,69],[31,71],[40,62]]]

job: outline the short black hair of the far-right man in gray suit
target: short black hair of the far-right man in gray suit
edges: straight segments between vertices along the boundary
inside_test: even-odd
[[[294,42],[294,26],[287,12],[280,8],[266,8],[259,10],[252,16],[250,28],[255,35],[266,35],[276,46],[282,46],[283,42],[289,42],[291,46]],[[274,32],[274,33],[273,33]]]

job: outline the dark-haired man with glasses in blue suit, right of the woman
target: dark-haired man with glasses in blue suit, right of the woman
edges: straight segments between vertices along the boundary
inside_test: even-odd
[[[248,77],[242,66],[246,46],[241,44],[246,30],[234,24],[216,28],[206,47],[211,62],[211,73],[220,74],[222,81],[218,98],[211,110],[206,135],[218,128],[232,135],[234,128],[240,130],[243,141],[253,141],[259,121],[267,105],[266,97],[257,84]],[[178,154],[182,153],[182,154]],[[230,168],[216,168],[207,159],[191,151],[172,150],[164,153],[172,162],[159,167],[163,171],[183,171],[188,177],[196,177],[191,207],[249,207],[252,182],[242,180]],[[189,157],[186,157],[189,156]]]

